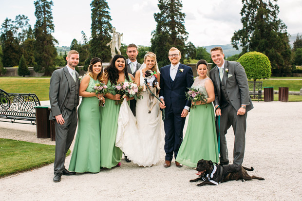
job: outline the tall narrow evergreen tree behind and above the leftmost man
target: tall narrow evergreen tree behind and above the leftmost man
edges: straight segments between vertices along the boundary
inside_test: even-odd
[[[37,65],[34,67],[36,72],[44,72],[44,75],[51,75],[55,69],[54,61],[57,56],[57,50],[54,43],[57,40],[52,36],[55,31],[53,24],[52,6],[53,1],[37,0],[35,1],[37,18],[34,34],[35,41],[35,61]]]

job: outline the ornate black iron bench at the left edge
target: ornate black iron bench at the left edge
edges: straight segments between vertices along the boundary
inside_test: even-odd
[[[36,106],[40,106],[40,101],[34,93],[7,93],[0,89],[0,121],[8,119],[14,123],[16,120],[25,120],[31,123],[16,123],[35,125]]]

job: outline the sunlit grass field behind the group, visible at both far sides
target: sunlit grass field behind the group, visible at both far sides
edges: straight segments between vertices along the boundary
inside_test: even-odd
[[[273,79],[257,81],[263,81],[262,87],[274,87],[274,90],[279,90],[279,87],[288,87],[289,91],[300,91],[302,88],[302,77],[271,78]],[[9,93],[36,93],[40,101],[49,100],[49,83],[50,77],[0,77],[0,89]],[[302,101],[302,96],[289,95],[288,99],[289,101]],[[278,95],[274,100],[278,100]]]

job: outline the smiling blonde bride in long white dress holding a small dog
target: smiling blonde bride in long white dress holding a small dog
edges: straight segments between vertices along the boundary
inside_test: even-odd
[[[141,69],[135,74],[134,81],[139,83],[140,86],[144,84],[144,73],[147,70],[155,71],[158,82],[160,82],[156,55],[151,52],[145,55]],[[142,91],[140,95],[143,97],[136,102],[136,118],[133,116],[126,101],[123,101],[121,105],[115,146],[120,147],[133,163],[150,167],[156,164],[160,158],[160,148],[164,137],[163,121],[158,102],[151,110],[151,113],[148,113],[149,90]]]

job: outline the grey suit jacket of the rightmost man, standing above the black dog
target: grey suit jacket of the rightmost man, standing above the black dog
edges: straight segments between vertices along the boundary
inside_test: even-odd
[[[226,72],[228,71],[228,72]],[[214,105],[220,105],[220,77],[218,67],[215,66],[210,71],[210,78],[215,89]],[[246,105],[246,111],[253,109],[253,104],[249,95],[247,77],[245,69],[239,62],[225,60],[224,79],[222,84],[226,86],[226,94],[235,110],[239,110],[241,105]]]

